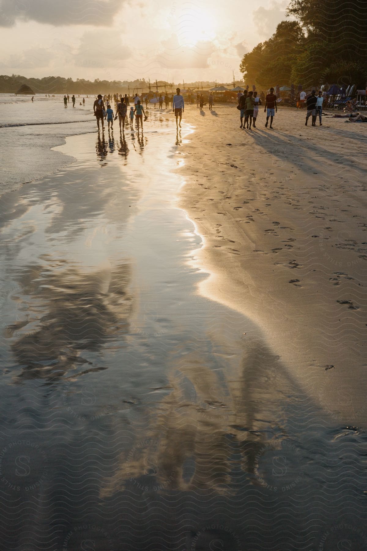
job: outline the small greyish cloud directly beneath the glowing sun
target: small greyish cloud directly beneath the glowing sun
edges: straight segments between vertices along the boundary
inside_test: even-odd
[[[172,34],[161,42],[162,49],[157,61],[162,67],[171,69],[204,69],[209,67],[208,60],[217,47],[211,41],[199,41],[194,46],[180,46],[178,37]]]

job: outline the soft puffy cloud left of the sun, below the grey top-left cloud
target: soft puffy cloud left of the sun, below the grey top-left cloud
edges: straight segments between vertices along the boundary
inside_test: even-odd
[[[121,33],[117,29],[86,31],[80,37],[80,45],[72,54],[77,67],[103,68],[114,67],[131,55],[128,46],[124,46]]]

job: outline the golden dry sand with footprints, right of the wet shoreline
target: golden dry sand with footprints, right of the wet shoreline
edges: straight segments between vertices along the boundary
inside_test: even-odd
[[[330,111],[328,111],[330,112]],[[180,206],[205,246],[201,292],[252,318],[289,375],[346,423],[363,423],[367,125],[279,109],[272,131],[234,105],[196,106]],[[310,121],[309,121],[310,123]]]

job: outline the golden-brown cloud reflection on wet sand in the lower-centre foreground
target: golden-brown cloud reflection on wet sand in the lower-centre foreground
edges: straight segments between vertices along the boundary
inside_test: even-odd
[[[134,427],[133,445],[106,478],[103,498],[130,488],[132,480],[137,490],[154,485],[157,490],[217,495],[240,490],[236,477],[242,484],[259,485],[256,457],[264,445],[276,450],[291,436],[282,401],[284,392],[296,389],[264,344],[244,348],[242,371],[232,381],[225,350],[222,359],[216,358],[215,370],[213,358],[195,348],[185,355],[184,365],[171,366],[166,385],[171,391],[148,427]],[[279,418],[284,418],[282,426],[273,423]]]

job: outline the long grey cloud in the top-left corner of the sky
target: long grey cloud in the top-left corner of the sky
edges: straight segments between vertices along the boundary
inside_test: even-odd
[[[51,25],[107,25],[120,9],[120,0],[2,0],[0,26],[17,21]]]

